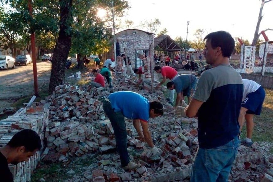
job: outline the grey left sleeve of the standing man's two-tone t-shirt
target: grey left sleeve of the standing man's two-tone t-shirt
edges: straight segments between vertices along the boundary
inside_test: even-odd
[[[210,97],[214,81],[215,79],[211,72],[203,72],[197,82],[193,98],[201,102],[206,102]]]

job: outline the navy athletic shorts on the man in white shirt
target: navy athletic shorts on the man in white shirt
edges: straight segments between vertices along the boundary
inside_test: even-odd
[[[247,114],[260,115],[265,99],[265,90],[260,86],[255,92],[247,94],[242,102],[242,107],[248,109]]]

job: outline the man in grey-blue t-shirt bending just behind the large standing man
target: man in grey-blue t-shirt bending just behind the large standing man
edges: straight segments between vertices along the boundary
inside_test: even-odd
[[[167,83],[169,90],[176,90],[175,107],[181,104],[184,97],[188,97],[188,103],[190,103],[191,95],[194,93],[197,83],[197,77],[191,74],[182,74],[174,78],[173,81]]]

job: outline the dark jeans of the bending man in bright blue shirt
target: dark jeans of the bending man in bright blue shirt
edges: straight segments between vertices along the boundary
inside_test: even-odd
[[[124,167],[130,162],[127,151],[127,131],[124,116],[121,112],[115,112],[114,109],[112,109],[111,103],[106,100],[103,102],[103,110],[114,129],[117,151],[120,154],[121,166]]]

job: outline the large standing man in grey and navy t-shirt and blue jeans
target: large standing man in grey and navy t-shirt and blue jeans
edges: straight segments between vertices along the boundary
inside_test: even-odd
[[[191,182],[227,181],[240,144],[238,117],[243,98],[241,75],[229,64],[234,39],[225,31],[206,35],[203,54],[213,68],[201,74],[185,114],[198,112],[199,149]]]

